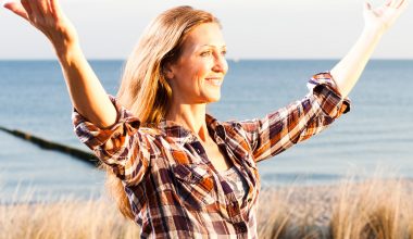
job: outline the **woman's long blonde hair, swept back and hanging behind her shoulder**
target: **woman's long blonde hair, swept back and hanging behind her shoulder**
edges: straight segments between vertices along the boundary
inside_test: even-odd
[[[211,13],[191,7],[177,7],[160,14],[143,33],[129,55],[117,92],[118,102],[150,127],[165,117],[172,99],[172,89],[164,76],[167,63],[180,54],[185,37],[203,23],[220,22]],[[107,187],[123,215],[134,219],[130,204],[113,171],[108,172]]]

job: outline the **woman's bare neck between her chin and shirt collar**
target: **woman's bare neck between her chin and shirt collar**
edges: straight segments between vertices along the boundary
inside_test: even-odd
[[[209,133],[205,123],[206,104],[172,104],[166,114],[167,121],[173,121],[196,134],[206,142]]]

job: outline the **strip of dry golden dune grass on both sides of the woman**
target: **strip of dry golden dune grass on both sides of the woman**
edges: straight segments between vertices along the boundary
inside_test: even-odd
[[[413,239],[413,183],[352,178],[330,186],[263,190],[260,238]],[[0,238],[138,238],[102,198],[0,205]]]

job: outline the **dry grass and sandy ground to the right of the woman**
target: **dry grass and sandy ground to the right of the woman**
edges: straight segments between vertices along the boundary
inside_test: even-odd
[[[277,201],[260,205],[266,213],[261,213],[260,238],[413,239],[411,180],[347,178],[264,194]]]

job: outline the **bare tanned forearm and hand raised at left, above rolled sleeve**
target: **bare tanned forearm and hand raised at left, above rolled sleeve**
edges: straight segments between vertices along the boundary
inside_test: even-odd
[[[116,110],[79,46],[76,29],[58,0],[22,0],[4,8],[39,29],[52,43],[61,64],[73,106],[98,127],[116,121]]]

